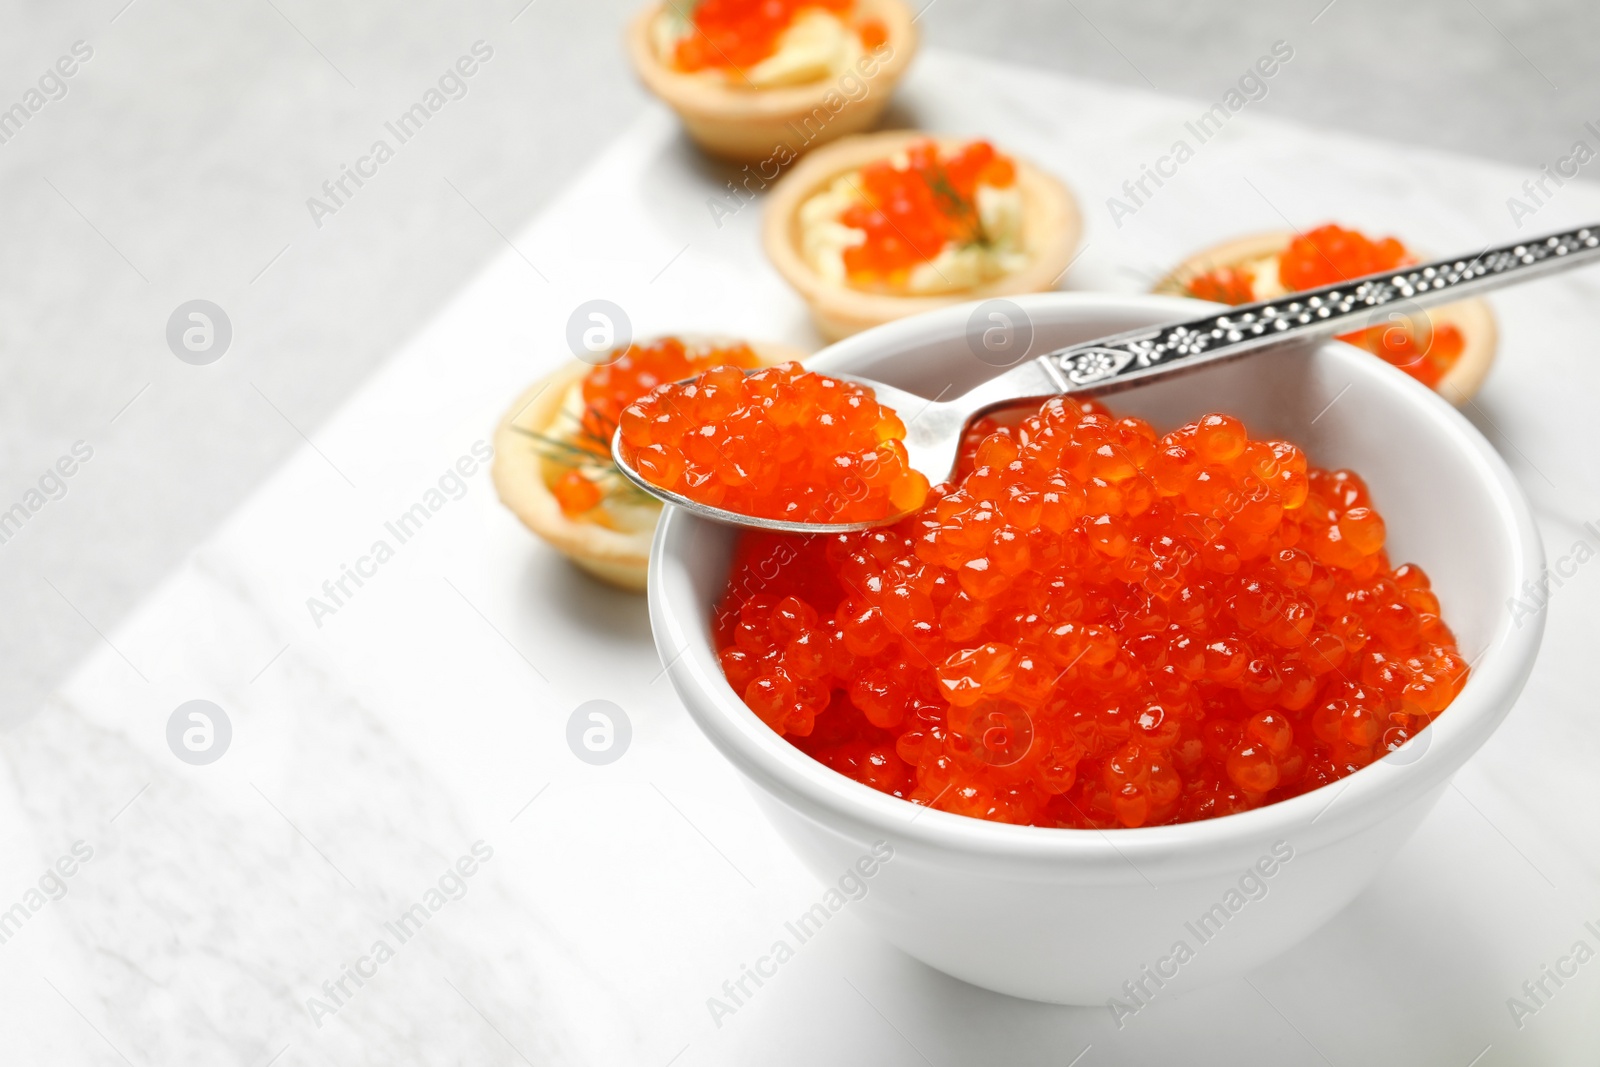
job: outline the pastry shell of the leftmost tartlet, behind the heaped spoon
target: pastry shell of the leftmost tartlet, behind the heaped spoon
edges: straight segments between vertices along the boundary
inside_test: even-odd
[[[728,338],[685,336],[685,342],[728,342]],[[749,341],[766,365],[802,360],[805,352],[786,344]],[[595,523],[576,522],[562,512],[544,483],[546,459],[533,448],[526,432],[546,432],[562,413],[571,386],[594,370],[573,360],[528,386],[506,410],[494,429],[494,464],[491,478],[501,502],[522,525],[552,544],[573,563],[595,577],[630,592],[645,592],[645,565],[654,530],[624,533]]]

